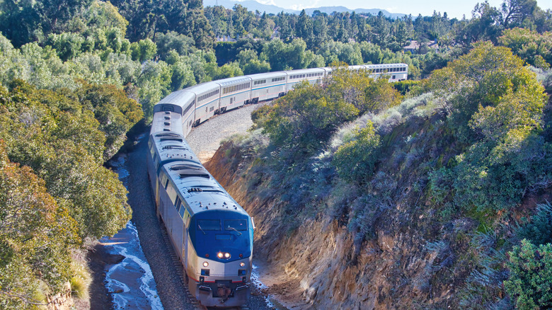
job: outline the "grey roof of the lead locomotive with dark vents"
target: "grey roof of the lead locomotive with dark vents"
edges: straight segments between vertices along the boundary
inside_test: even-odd
[[[188,203],[190,215],[207,210],[224,210],[247,215],[201,164],[173,161],[166,163],[163,171]]]

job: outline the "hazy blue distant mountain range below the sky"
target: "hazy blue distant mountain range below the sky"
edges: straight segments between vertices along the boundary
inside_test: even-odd
[[[246,1],[236,1],[236,0],[203,0],[203,6],[224,6],[225,8],[233,8],[234,4],[240,4],[241,6],[248,9],[248,11],[260,11],[261,13],[266,12],[267,14],[273,13],[277,14],[280,12],[284,13],[291,13],[291,14],[299,14],[301,11],[292,10],[289,8],[280,8],[280,6],[273,6],[271,4],[260,4],[257,1],[253,0],[246,0]],[[333,12],[349,12],[352,13],[355,11],[355,13],[370,13],[372,15],[378,15],[379,11],[381,13],[384,13],[385,16],[391,17],[391,18],[400,18],[403,16],[406,16],[406,14],[401,13],[389,13],[388,11],[382,10],[380,8],[355,8],[354,10],[350,8],[346,8],[345,6],[321,6],[319,8],[305,8],[305,12],[307,15],[311,16],[314,11],[321,11],[322,13],[331,14]]]

